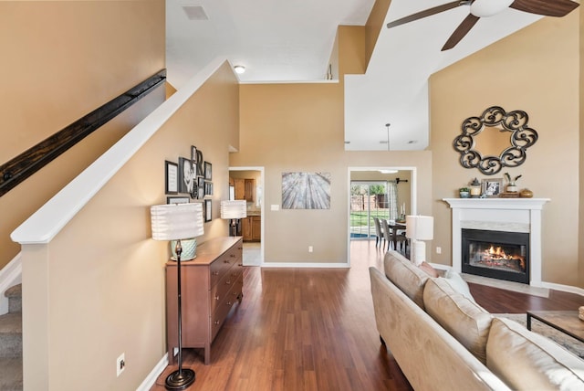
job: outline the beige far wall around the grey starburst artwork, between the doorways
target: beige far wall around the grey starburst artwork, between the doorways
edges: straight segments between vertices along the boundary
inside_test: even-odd
[[[362,72],[364,28],[341,26],[338,38],[341,72]],[[339,84],[245,84],[240,91],[241,148],[230,164],[266,167],[266,262],[347,262],[349,167],[417,167],[418,211],[431,212],[431,153],[344,151],[342,78]],[[270,210],[281,205],[282,173],[294,171],[331,174],[330,209]]]

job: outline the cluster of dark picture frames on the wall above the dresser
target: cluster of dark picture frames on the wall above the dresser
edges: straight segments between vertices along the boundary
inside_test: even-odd
[[[204,221],[213,219],[213,164],[203,160],[203,152],[191,145],[191,157],[178,162],[164,161],[164,194],[167,204],[188,204],[203,200]],[[180,196],[180,195],[188,196]]]

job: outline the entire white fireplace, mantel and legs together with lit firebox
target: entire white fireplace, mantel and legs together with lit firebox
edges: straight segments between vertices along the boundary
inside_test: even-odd
[[[547,198],[445,198],[453,268],[541,286],[541,209]]]

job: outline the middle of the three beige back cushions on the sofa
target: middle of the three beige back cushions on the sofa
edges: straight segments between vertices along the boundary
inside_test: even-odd
[[[483,364],[492,315],[454,291],[442,278],[430,279],[423,290],[426,312]]]

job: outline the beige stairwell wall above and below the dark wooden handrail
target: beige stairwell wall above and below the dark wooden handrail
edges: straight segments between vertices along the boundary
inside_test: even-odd
[[[164,68],[164,2],[0,2],[0,48],[5,164]],[[0,269],[20,250],[10,233],[163,100],[156,91],[0,197]]]

